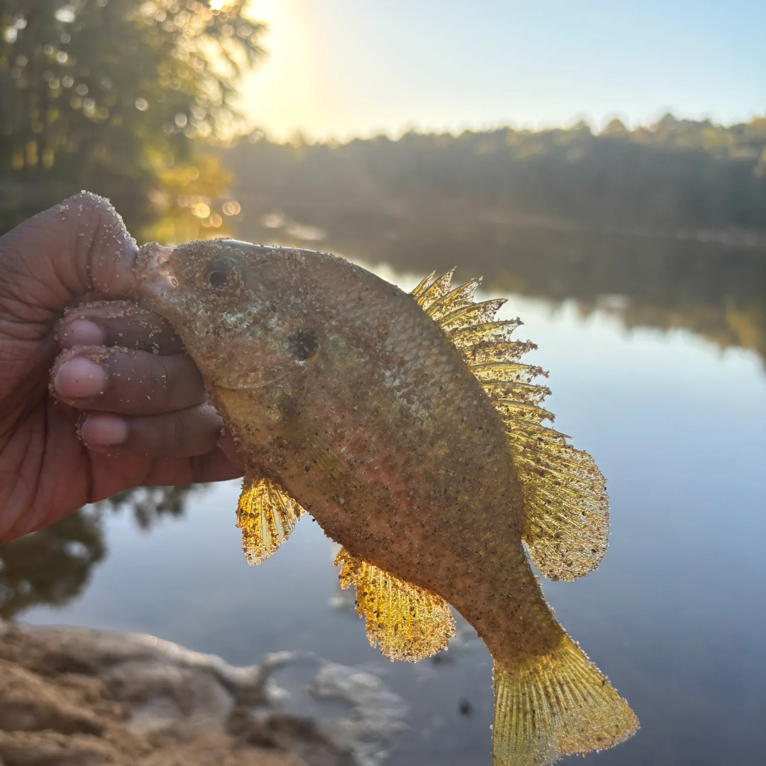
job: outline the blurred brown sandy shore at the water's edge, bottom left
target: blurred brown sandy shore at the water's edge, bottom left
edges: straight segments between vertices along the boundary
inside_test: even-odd
[[[325,663],[300,693],[345,716],[296,715],[270,680],[291,661],[239,668],[151,636],[0,621],[0,766],[382,764],[401,700]]]

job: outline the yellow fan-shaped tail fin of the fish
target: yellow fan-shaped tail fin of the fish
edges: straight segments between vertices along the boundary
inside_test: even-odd
[[[548,766],[637,729],[627,702],[567,635],[546,656],[495,663],[495,766]]]

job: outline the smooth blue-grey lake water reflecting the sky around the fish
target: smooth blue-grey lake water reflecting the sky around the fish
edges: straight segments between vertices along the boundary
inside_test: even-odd
[[[410,287],[415,277],[385,272]],[[642,724],[588,763],[755,764],[766,751],[766,375],[755,352],[686,330],[628,331],[614,312],[509,295],[503,311],[551,372],[546,406],[607,476],[611,545],[574,583],[543,581],[561,624]],[[231,663],[309,650],[372,669],[409,706],[398,766],[489,766],[489,654],[469,629],[437,661],[390,663],[339,606],[332,543],[311,519],[248,567],[237,484],[192,493],[142,531],[107,517],[107,555],[64,607],[17,615],[154,633]],[[0,548],[2,555],[2,548]]]

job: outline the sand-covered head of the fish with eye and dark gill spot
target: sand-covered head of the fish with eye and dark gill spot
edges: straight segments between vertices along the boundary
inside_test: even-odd
[[[319,353],[312,256],[321,258],[227,239],[145,245],[139,300],[168,319],[214,385],[270,385]]]

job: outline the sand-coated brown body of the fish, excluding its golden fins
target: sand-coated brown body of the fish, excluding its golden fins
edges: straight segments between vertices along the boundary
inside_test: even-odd
[[[140,300],[182,338],[248,470],[353,557],[452,604],[503,673],[579,651],[525,556],[506,428],[412,296],[329,254],[230,240],[145,246],[137,264]],[[622,721],[554,745],[512,715],[519,763],[632,733]]]

